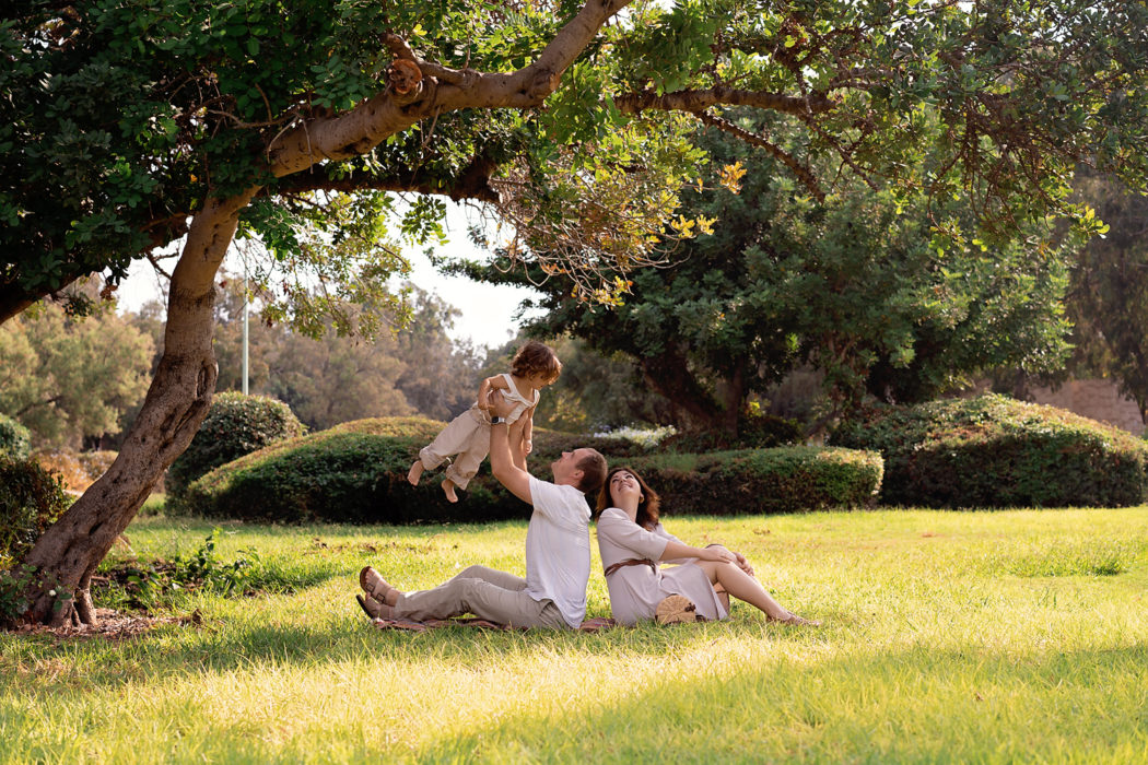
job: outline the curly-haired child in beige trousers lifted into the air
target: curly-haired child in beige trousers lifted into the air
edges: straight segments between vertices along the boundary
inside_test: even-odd
[[[521,440],[512,443],[513,451],[523,456],[529,454],[534,431],[534,408],[538,403],[538,391],[558,380],[563,365],[553,350],[537,341],[529,341],[514,354],[510,374],[487,377],[479,387],[479,400],[471,408],[450,421],[429,446],[419,451],[419,459],[411,466],[406,479],[412,486],[419,485],[424,470],[433,470],[449,458],[457,454],[453,462],[443,471],[442,490],[451,502],[458,501],[456,489],[466,485],[479,471],[482,460],[490,453],[490,391],[501,390],[503,398],[514,403],[514,408],[506,416],[506,422],[513,423],[525,417],[519,428]],[[515,448],[517,447],[517,448]]]

